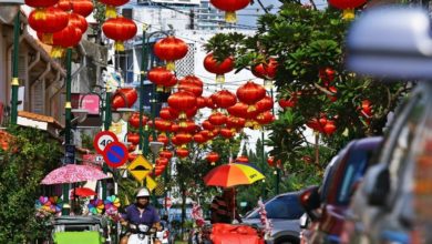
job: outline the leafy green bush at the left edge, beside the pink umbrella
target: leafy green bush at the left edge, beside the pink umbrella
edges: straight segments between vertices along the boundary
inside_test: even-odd
[[[62,156],[60,143],[47,132],[10,128],[14,136],[8,151],[0,150],[0,243],[29,243],[49,234],[35,217],[34,201],[41,181]]]

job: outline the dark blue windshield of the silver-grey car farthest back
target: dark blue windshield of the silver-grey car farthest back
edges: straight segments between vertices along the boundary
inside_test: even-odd
[[[280,195],[265,203],[268,218],[298,220],[304,210],[297,194]],[[258,218],[258,210],[253,211],[246,218]]]

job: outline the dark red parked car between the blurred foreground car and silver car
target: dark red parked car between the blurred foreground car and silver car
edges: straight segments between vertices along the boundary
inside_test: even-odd
[[[300,203],[311,218],[308,231],[301,234],[301,243],[339,243],[351,195],[381,142],[382,138],[379,136],[350,142],[326,170],[328,172],[319,193],[318,187],[310,187],[300,194]],[[310,196],[311,192],[319,194],[319,197],[305,197]]]

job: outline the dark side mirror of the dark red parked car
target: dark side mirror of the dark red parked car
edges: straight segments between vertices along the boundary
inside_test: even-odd
[[[321,200],[320,200],[318,189],[319,187],[316,185],[305,189],[299,196],[300,204],[305,209],[305,212],[308,214],[311,221],[316,221],[321,217],[319,214]]]

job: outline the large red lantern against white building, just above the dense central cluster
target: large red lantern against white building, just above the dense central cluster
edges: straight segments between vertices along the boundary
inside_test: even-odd
[[[153,48],[154,54],[166,61],[167,70],[175,70],[174,61],[183,59],[187,54],[188,45],[175,37],[158,40]]]

